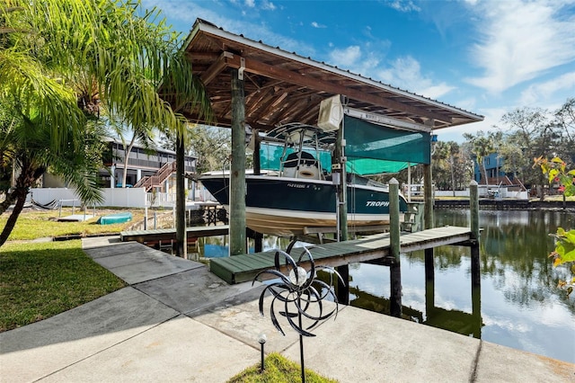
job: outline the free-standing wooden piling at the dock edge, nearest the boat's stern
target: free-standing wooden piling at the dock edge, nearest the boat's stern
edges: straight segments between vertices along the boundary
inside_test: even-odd
[[[389,241],[390,254],[394,257],[389,266],[391,297],[389,311],[391,316],[402,316],[402,269],[399,223],[399,183],[395,178],[389,181]]]

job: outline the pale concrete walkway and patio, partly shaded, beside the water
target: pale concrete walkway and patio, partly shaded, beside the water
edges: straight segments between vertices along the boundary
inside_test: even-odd
[[[2,382],[225,382],[299,343],[258,310],[262,286],[227,285],[202,263],[118,237],[84,251],[129,287],[0,334]],[[575,365],[355,307],[305,338],[305,367],[341,382],[566,382]]]

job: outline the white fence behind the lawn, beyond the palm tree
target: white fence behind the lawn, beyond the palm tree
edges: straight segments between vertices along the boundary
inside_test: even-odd
[[[104,188],[104,200],[97,206],[110,206],[119,208],[145,208],[146,190],[144,188]],[[75,194],[74,189],[67,188],[41,188],[31,189],[29,198],[42,204],[52,200],[62,201],[62,206],[80,206],[82,201]]]

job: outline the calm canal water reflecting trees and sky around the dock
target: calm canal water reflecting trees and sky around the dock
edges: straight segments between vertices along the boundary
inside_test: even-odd
[[[469,212],[438,209],[436,226],[468,226]],[[481,291],[472,294],[470,249],[435,249],[435,283],[425,281],[423,252],[402,255],[403,314],[412,320],[467,336],[575,362],[575,293],[566,298],[547,255],[557,227],[575,227],[575,214],[552,211],[481,211]],[[287,241],[264,238],[264,248]],[[226,238],[211,244],[225,246]],[[224,247],[225,248],[225,247]],[[208,249],[207,249],[208,250]],[[226,253],[226,252],[224,252]],[[389,269],[366,263],[349,266],[352,306],[386,313]]]

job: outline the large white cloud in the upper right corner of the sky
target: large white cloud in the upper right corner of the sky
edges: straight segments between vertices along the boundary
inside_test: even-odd
[[[472,57],[483,76],[466,81],[500,93],[575,60],[575,19],[561,12],[562,5],[546,0],[476,4],[482,38]]]

